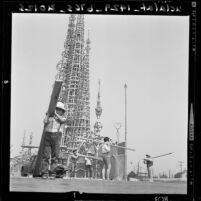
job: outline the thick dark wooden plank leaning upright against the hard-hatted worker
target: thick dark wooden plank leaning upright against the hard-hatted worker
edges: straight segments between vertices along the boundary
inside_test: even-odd
[[[61,86],[62,86],[62,81],[55,81],[54,87],[52,90],[52,95],[51,95],[49,107],[48,107],[48,111],[47,111],[47,113],[50,116],[53,115],[53,113],[55,111],[56,104],[57,104],[57,101],[59,98],[59,93],[61,91]],[[36,160],[36,165],[34,168],[33,177],[37,177],[40,174],[41,162],[42,162],[42,153],[44,151],[45,127],[46,127],[46,124],[44,124],[44,127],[43,127],[43,133],[41,136],[40,146],[39,146],[39,150],[38,150],[38,157]]]

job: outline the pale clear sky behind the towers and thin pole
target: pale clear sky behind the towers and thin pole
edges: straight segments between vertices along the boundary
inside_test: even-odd
[[[18,155],[24,132],[39,145],[56,65],[64,50],[69,15],[13,14],[11,78],[11,156]],[[187,166],[187,16],[85,15],[90,31],[91,128],[96,121],[101,81],[102,135],[124,140],[124,84],[127,84],[128,171],[145,154],[157,156],[155,174]],[[133,162],[133,165],[130,163]],[[142,164],[143,166],[143,164]],[[144,166],[143,166],[144,168]]]

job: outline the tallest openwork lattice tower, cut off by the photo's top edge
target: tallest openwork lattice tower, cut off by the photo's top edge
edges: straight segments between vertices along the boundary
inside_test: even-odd
[[[87,39],[85,47],[84,16],[71,15],[56,76],[63,80],[59,100],[67,110],[62,145],[69,149],[79,148],[81,142],[77,137],[87,137],[90,133],[89,45]]]

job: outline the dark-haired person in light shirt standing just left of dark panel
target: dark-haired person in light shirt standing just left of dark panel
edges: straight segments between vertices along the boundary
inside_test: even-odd
[[[103,158],[102,178],[109,180],[110,169],[111,169],[109,137],[104,138],[104,143],[102,145],[102,158]]]

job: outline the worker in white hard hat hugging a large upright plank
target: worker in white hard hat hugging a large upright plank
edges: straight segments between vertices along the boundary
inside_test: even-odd
[[[62,124],[66,122],[66,118],[64,117],[65,111],[64,104],[62,102],[58,102],[54,114],[50,116],[46,113],[46,117],[44,119],[45,139],[41,170],[43,178],[55,178],[56,176],[54,169],[57,167],[59,160]]]

